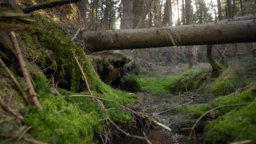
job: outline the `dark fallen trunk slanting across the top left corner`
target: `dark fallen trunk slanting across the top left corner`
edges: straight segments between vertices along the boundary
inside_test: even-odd
[[[38,4],[30,5],[26,8],[23,8],[22,11],[23,11],[23,13],[26,14],[26,13],[30,13],[30,12],[35,11],[35,10],[58,7],[58,6],[61,6],[61,5],[64,5],[64,4],[76,3],[78,1],[80,1],[80,0],[49,1],[49,2],[45,2],[45,3],[38,3]]]

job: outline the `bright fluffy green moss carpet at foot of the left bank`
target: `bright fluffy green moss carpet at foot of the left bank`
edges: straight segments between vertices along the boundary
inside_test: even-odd
[[[102,100],[107,111],[103,110],[97,101],[90,97],[70,97],[75,92],[59,88],[59,93],[53,94],[50,86],[36,82],[36,91],[40,95],[43,110],[36,107],[21,110],[25,123],[32,127],[31,133],[38,139],[49,143],[93,143],[95,133],[100,133],[106,127],[106,121],[99,119],[109,116],[114,122],[128,123],[131,113],[122,109],[113,101]],[[109,91],[106,94],[95,93],[97,97],[114,100],[119,104],[132,103],[136,95],[126,95],[122,91]],[[112,92],[112,95],[110,95]],[[61,98],[60,98],[61,97]],[[77,105],[76,105],[77,104]],[[27,114],[25,114],[27,113]]]

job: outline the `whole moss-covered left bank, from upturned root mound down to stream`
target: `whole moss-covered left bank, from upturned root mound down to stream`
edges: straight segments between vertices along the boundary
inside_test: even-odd
[[[138,95],[127,95],[127,92],[103,83],[92,67],[91,59],[73,43],[65,29],[62,31],[36,15],[33,19],[38,21],[38,29],[18,34],[28,71],[43,106],[43,110],[37,110],[35,106],[20,110],[25,123],[32,127],[30,133],[37,140],[48,143],[94,143],[95,133],[100,133],[107,125],[106,120],[100,121],[106,115],[115,123],[129,123],[131,113],[120,105],[133,103]],[[69,96],[78,92],[89,95],[74,56],[78,58],[94,95],[108,99],[101,100],[106,110],[90,97]],[[57,83],[61,95],[54,94],[53,86],[47,84],[51,81]]]

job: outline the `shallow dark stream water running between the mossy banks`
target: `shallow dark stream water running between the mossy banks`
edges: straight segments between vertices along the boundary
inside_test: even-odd
[[[190,118],[181,113],[175,112],[177,107],[191,104],[205,104],[206,99],[193,94],[170,94],[170,95],[144,95],[141,103],[133,105],[139,107],[143,113],[147,113],[156,121],[167,125],[172,129],[168,131],[158,125],[155,127],[142,126],[133,130],[133,135],[143,136],[143,131],[152,143],[203,143],[202,129],[204,123],[201,122],[196,129],[196,139],[189,140],[190,131],[181,130],[191,127],[196,119]],[[119,135],[115,137],[113,143],[147,143],[145,140]]]

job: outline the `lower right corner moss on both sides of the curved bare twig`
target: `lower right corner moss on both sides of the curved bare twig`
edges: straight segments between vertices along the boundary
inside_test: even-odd
[[[256,86],[245,91],[232,93],[211,101],[212,107],[248,103],[240,106],[226,106],[214,110],[218,118],[205,127],[205,137],[212,143],[229,143],[235,140],[256,142]]]

